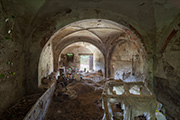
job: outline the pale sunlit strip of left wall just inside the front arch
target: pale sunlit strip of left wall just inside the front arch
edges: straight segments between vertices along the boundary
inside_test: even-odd
[[[40,56],[38,67],[38,86],[41,85],[41,79],[53,72],[53,52],[51,43],[47,43]]]

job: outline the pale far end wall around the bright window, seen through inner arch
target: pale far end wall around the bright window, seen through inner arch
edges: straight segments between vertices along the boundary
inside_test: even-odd
[[[67,59],[68,54],[73,55],[73,59],[71,61],[68,61]],[[83,70],[82,68],[86,67],[83,67],[81,64],[81,56],[92,57],[92,60],[87,61],[92,62],[90,63],[92,66],[86,66],[88,71],[101,70],[104,74],[104,55],[96,46],[87,42],[75,42],[65,47],[59,55],[59,67],[75,67]]]

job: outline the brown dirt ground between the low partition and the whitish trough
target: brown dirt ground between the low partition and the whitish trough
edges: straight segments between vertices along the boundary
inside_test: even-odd
[[[102,119],[102,87],[99,84],[88,80],[74,82],[68,85],[67,89],[63,94],[54,97],[48,108],[46,120]]]

